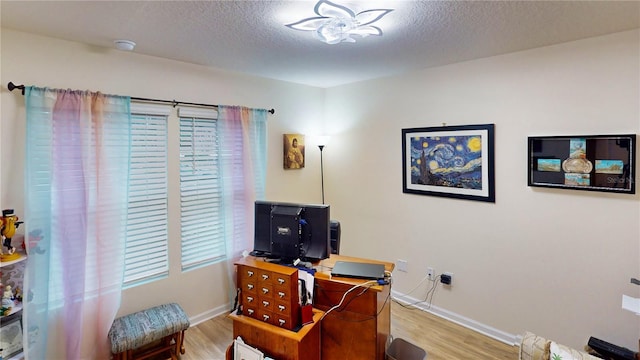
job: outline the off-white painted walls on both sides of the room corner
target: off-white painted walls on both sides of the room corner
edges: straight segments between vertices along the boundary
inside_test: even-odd
[[[639,38],[625,32],[322,90],[2,29],[0,204],[24,213],[23,97],[9,81],[273,107],[267,199],[320,202],[310,136],[333,134],[325,188],[342,253],[407,260],[395,292],[433,266],[454,273],[434,308],[504,338],[530,330],[580,348],[589,336],[635,348],[640,318],[620,299],[640,296],[629,284],[640,276],[640,197],[527,187],[526,137],[638,133]],[[495,204],[402,193],[401,129],[443,122],[496,124]],[[282,169],[283,133],[309,136],[305,169]],[[169,279],[125,291],[120,313],[176,299],[196,319],[228,309],[223,266],[181,274],[175,260]]]

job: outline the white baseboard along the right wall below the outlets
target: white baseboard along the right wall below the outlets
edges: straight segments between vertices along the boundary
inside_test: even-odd
[[[412,306],[414,306],[417,309],[420,309],[422,311],[426,311],[428,313],[431,313],[433,315],[439,316],[443,319],[446,319],[448,321],[454,322],[458,325],[464,326],[467,329],[479,332],[483,335],[486,335],[490,338],[496,339],[498,341],[501,341],[507,345],[518,345],[520,344],[520,340],[522,340],[522,336],[521,335],[514,335],[514,334],[509,334],[507,332],[504,332],[502,330],[498,330],[496,328],[493,328],[491,326],[488,326],[486,324],[482,324],[478,321],[475,321],[473,319],[469,319],[467,317],[464,317],[460,314],[456,314],[454,312],[451,312],[449,310],[445,310],[443,308],[439,308],[437,306],[431,305],[429,306],[429,304],[420,301],[420,299],[416,299],[410,296],[406,296],[404,294],[398,293],[397,291],[391,291],[391,296],[393,296],[393,298],[395,300],[397,300],[398,302],[401,302],[403,304],[412,304]]]

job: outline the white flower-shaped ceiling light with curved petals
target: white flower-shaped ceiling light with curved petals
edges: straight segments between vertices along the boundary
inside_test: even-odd
[[[393,11],[392,9],[371,9],[356,14],[345,6],[326,0],[318,1],[313,10],[318,16],[285,26],[294,30],[313,31],[320,41],[327,44],[356,42],[352,35],[381,36],[382,30],[371,24]]]

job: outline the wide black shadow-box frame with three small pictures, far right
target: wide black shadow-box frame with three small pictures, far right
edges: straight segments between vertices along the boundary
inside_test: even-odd
[[[532,187],[635,194],[636,135],[528,137]]]

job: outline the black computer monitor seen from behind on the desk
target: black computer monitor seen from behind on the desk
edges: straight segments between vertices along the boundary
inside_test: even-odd
[[[330,207],[258,200],[253,255],[290,262],[317,261],[331,254]]]

